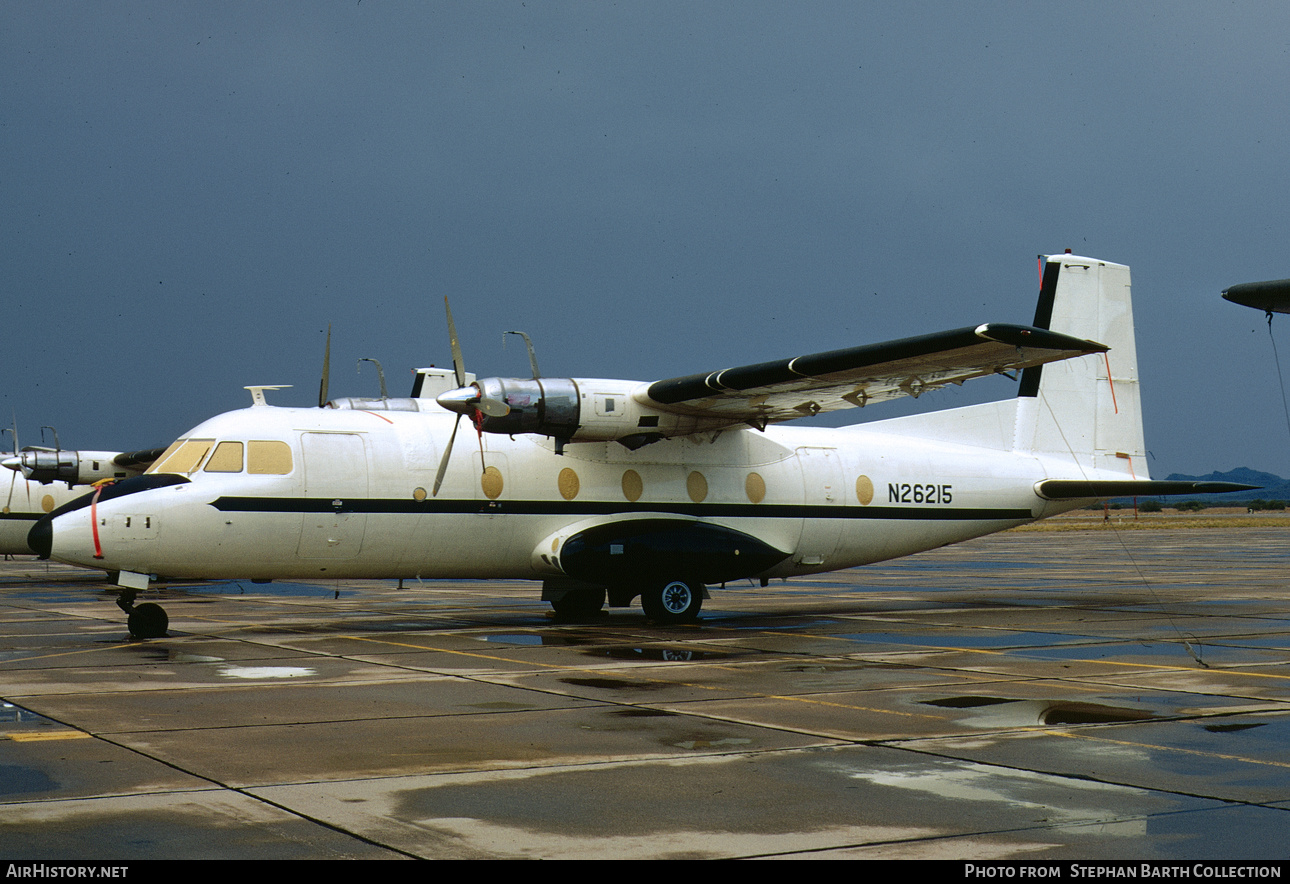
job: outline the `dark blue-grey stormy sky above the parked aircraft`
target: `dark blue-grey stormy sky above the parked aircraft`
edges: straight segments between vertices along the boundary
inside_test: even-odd
[[[1133,267],[1152,471],[1290,474],[1219,298],[1290,276],[1287,53],[1281,3],[4,0],[0,422],[308,404],[328,323],[333,395],[402,394],[445,294],[482,374],[515,328],[648,381],[1028,323],[1072,248]]]

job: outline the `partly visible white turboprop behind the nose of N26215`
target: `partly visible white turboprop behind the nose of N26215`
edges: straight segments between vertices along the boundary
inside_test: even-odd
[[[0,459],[0,466],[13,470],[8,489],[0,479],[0,555],[31,555],[27,534],[37,519],[85,494],[88,485],[143,474],[161,452],[23,448]]]

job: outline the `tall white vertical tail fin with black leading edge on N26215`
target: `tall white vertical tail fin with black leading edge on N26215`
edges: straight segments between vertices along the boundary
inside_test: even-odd
[[[1082,472],[1147,479],[1129,267],[1050,256],[1035,325],[1098,341],[1111,351],[1026,369],[1015,447],[1058,461],[1073,458]]]

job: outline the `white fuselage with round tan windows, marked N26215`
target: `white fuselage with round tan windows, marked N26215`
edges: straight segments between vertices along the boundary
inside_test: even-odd
[[[569,576],[562,545],[579,530],[667,519],[730,528],[784,554],[731,572],[770,578],[908,555],[1078,506],[1036,494],[1054,470],[1032,453],[893,435],[882,423],[744,427],[639,450],[578,443],[562,456],[535,435],[485,435],[481,456],[466,427],[432,496],[452,426],[437,410],[223,414],[186,436],[210,440],[209,453],[175,484],[104,494],[53,519],[53,555],[177,578],[544,579]],[[266,441],[289,450],[273,467],[285,472],[249,471],[264,468],[250,452]],[[241,443],[245,461],[217,463],[222,443]]]

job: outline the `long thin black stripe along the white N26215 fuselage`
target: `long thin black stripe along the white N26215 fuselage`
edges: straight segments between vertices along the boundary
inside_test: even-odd
[[[221,512],[334,512],[382,515],[606,516],[670,514],[743,519],[922,519],[935,521],[1027,520],[1022,507],[838,506],[809,503],[613,503],[608,501],[396,501],[379,498],[221,497]]]

